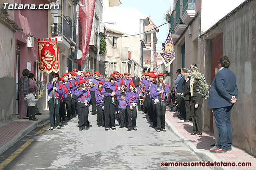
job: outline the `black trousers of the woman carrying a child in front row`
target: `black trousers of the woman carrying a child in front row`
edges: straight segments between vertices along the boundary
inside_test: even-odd
[[[108,97],[111,98],[111,97]],[[115,127],[115,106],[112,104],[110,100],[104,102],[104,114],[105,114],[105,128],[109,128],[110,126]],[[110,125],[111,123],[111,125]]]

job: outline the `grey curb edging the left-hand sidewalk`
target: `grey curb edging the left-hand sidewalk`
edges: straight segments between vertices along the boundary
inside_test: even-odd
[[[47,121],[49,120],[50,120],[50,117],[46,119],[38,120],[37,122],[34,122],[33,124],[29,125],[25,129],[22,129],[10,142],[6,143],[4,146],[0,148],[0,154],[2,154],[4,151],[12,147],[16,142],[18,142],[20,139],[28,135],[28,133],[36,129],[36,127],[38,127],[39,125],[46,124]]]

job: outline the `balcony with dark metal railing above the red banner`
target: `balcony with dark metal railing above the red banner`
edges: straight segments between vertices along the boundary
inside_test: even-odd
[[[64,37],[65,40],[61,38],[58,39],[63,43],[63,48],[69,48],[69,44],[76,46],[76,25],[72,23],[69,16],[64,16],[64,14],[52,14],[53,24],[54,24],[54,37]],[[68,44],[69,43],[69,44]],[[62,47],[62,44],[60,44]]]

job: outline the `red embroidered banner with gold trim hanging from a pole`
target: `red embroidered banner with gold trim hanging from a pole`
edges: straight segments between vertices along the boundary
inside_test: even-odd
[[[41,72],[59,71],[59,53],[57,39],[38,40],[38,69]]]

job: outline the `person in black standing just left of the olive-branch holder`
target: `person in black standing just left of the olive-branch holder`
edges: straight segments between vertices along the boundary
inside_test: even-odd
[[[190,79],[188,77],[189,73],[186,73],[184,75],[184,78],[186,80],[186,84],[183,89],[182,96],[184,97],[184,102],[185,102],[185,108],[186,108],[186,120],[184,122],[188,122],[189,118],[191,116],[191,110],[190,110]]]

